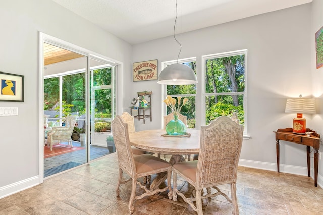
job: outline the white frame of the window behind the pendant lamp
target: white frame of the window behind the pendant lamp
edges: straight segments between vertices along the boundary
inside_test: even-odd
[[[164,68],[166,68],[169,65],[175,64],[175,63],[187,63],[187,62],[194,62],[196,61],[196,57],[190,57],[190,58],[185,58],[185,59],[178,59],[178,60],[170,60],[170,61],[165,61],[165,62],[161,62],[161,69],[163,70]],[[197,72],[197,71],[196,71]],[[197,87],[196,87],[197,88]],[[186,96],[195,96],[195,107],[197,107],[197,101],[196,101],[196,97],[197,97],[197,89],[196,89],[196,93],[195,94],[181,94],[181,95],[172,95],[173,97],[175,96],[182,96],[182,97],[186,97]],[[167,97],[167,85],[161,85],[161,98],[163,98],[163,100]],[[161,126],[164,127],[164,116],[167,114],[167,107],[165,105],[164,102],[161,103]],[[197,110],[195,109],[195,121],[196,121],[196,116],[198,115]],[[197,125],[195,124],[195,127],[197,127]]]

